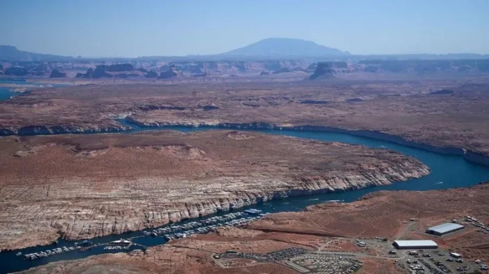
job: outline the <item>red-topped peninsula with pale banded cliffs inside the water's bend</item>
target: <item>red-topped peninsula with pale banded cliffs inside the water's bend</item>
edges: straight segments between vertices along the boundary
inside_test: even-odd
[[[0,165],[1,249],[429,174],[386,149],[222,130],[9,137]]]

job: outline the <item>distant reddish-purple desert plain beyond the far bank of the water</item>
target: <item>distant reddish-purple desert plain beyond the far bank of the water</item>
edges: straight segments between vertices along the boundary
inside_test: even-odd
[[[489,153],[486,78],[457,76],[447,80],[447,75],[445,80],[413,80],[411,75],[406,80],[382,80],[380,76],[380,80],[353,80],[355,75],[318,82],[241,80],[215,84],[212,80],[90,80],[90,84],[78,86],[34,89],[28,95],[0,102],[0,133],[130,128],[116,118],[146,127],[347,129],[354,134],[466,154],[488,164],[481,157]]]

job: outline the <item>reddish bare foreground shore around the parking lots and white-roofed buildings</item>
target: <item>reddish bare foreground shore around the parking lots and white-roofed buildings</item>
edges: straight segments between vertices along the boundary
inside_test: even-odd
[[[442,191],[376,192],[352,203],[325,203],[303,212],[268,214],[243,228],[171,241],[149,248],[146,253],[55,262],[26,273],[295,273],[285,261],[264,264],[252,259],[215,257],[227,250],[265,254],[284,248],[302,248],[316,254],[354,254],[363,262],[357,273],[404,273],[396,261],[403,255],[387,255],[394,239],[434,239],[445,254],[454,251],[463,254],[467,261],[487,262],[489,235],[465,223],[464,218],[470,215],[489,222],[488,188],[486,183]],[[443,237],[424,232],[429,226],[452,219],[465,228]],[[388,242],[377,241],[379,237],[386,237]],[[368,242],[368,247],[357,246],[358,240]]]

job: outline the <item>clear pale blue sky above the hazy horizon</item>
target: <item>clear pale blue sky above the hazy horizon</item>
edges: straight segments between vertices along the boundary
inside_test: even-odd
[[[85,57],[212,54],[268,37],[354,54],[489,54],[489,0],[1,0],[0,44]]]

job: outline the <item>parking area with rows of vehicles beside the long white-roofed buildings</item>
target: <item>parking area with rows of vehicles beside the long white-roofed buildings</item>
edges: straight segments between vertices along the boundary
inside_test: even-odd
[[[270,253],[241,253],[228,250],[214,255],[214,259],[251,259],[257,263],[275,263],[286,265],[300,273],[354,273],[362,268],[362,258],[387,259],[388,264],[395,264],[402,273],[487,273],[485,262],[454,257],[447,250],[397,250],[392,241],[381,237],[370,239],[349,239],[355,248],[348,250],[316,251],[304,248],[286,248]],[[480,272],[477,272],[480,271]]]

